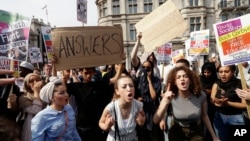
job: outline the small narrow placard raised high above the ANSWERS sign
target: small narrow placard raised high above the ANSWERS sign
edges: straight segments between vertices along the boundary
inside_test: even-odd
[[[77,20],[87,23],[87,0],[77,0]]]

